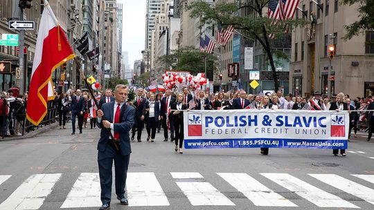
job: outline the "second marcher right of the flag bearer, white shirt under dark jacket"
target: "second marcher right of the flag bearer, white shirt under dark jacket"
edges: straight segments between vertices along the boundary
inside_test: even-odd
[[[147,142],[154,142],[156,129],[159,125],[160,102],[155,100],[154,94],[150,94],[150,100],[145,105],[145,122],[147,122]]]

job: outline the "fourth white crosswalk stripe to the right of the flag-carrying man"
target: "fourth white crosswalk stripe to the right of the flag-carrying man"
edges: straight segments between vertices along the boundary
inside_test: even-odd
[[[359,208],[354,204],[299,180],[288,173],[260,173],[289,191],[309,200],[318,207]]]

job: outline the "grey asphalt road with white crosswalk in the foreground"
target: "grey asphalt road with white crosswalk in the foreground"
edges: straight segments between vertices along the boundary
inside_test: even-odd
[[[68,128],[71,126],[69,125]],[[98,129],[53,129],[0,141],[0,209],[98,209]],[[161,131],[162,133],[162,131]],[[374,139],[359,133],[347,157],[330,150],[204,149],[132,143],[129,207],[112,209],[374,209]]]

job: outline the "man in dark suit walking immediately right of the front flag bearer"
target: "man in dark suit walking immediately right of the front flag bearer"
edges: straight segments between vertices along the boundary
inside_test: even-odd
[[[145,104],[147,102],[147,99],[143,97],[144,90],[142,88],[139,88],[137,90],[137,94],[135,97],[135,124],[132,126],[132,137],[131,140],[134,141],[135,137],[135,132],[138,132],[138,135],[136,139],[138,142],[141,142],[141,132],[143,131],[144,127],[144,109],[145,109]]]

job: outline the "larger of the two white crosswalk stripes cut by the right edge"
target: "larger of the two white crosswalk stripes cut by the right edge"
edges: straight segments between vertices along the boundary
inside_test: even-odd
[[[357,184],[356,182],[352,182],[347,180],[346,178],[342,178],[339,175],[335,174],[309,174],[312,177],[325,182],[326,184],[330,184],[332,187],[345,191],[346,193],[350,193],[355,195],[358,198],[366,200],[366,202],[370,202],[374,204],[374,190],[368,187],[365,187],[362,184]]]

